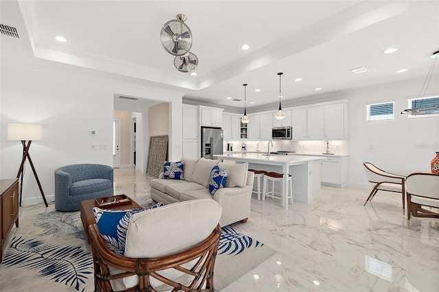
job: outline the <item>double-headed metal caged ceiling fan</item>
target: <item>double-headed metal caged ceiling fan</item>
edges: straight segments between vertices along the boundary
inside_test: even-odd
[[[189,52],[192,47],[192,32],[185,24],[185,14],[177,14],[176,19],[167,21],[160,33],[163,48],[174,58],[174,66],[183,73],[189,73],[198,65],[198,58]]]

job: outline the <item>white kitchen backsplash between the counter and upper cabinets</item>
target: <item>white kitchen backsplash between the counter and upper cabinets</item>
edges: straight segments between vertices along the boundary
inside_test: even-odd
[[[233,151],[241,151],[241,144],[247,145],[247,151],[268,151],[268,141],[225,141],[224,151],[227,150],[227,143],[233,143]],[[329,152],[333,154],[348,154],[348,141],[329,141]],[[285,141],[274,140],[270,151],[296,151],[296,153],[322,154],[327,151],[327,141]]]

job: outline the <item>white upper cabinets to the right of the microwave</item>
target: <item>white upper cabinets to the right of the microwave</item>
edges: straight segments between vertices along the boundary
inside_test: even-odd
[[[348,138],[346,102],[292,110],[293,140]]]

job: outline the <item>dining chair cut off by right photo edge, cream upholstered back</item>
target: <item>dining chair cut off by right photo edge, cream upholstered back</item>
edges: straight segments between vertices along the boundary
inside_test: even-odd
[[[407,219],[410,217],[439,218],[439,174],[412,173],[407,176]],[[427,210],[425,207],[430,207]]]

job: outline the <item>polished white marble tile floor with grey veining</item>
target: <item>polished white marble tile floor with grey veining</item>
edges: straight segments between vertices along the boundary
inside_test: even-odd
[[[146,175],[115,170],[115,192],[149,192]],[[224,291],[439,291],[439,219],[413,218],[401,196],[331,188],[288,210],[253,195],[247,223],[233,227],[277,250]]]

